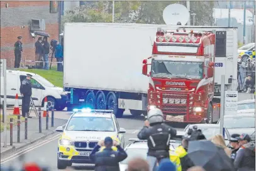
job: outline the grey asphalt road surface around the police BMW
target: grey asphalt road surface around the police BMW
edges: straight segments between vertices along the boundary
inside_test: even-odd
[[[70,113],[62,112],[60,115],[62,118],[69,118]],[[60,118],[60,116],[58,118]],[[131,116],[131,114],[125,114],[123,118],[118,119],[118,123],[121,128],[125,128],[125,144],[127,145],[129,138],[136,138],[138,131],[143,126],[143,116],[135,118]],[[177,130],[181,131],[182,128],[178,128]],[[17,152],[12,154],[9,157],[1,158],[1,165],[9,166],[9,165],[19,165],[19,158],[23,158],[22,160],[25,162],[41,162],[48,165],[51,170],[57,169],[57,141],[59,133],[48,137],[47,140],[42,140],[35,145],[31,145],[24,152]],[[2,161],[4,162],[2,163]],[[81,165],[81,164],[73,164],[71,167],[68,167],[67,170],[93,170],[94,167],[92,165]]]

